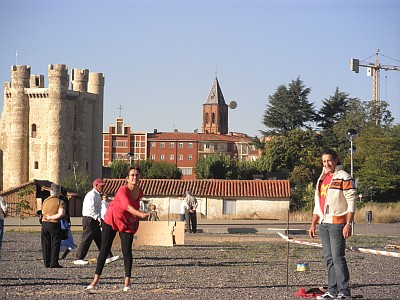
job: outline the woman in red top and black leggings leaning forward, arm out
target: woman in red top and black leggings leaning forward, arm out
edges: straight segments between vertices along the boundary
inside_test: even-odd
[[[102,224],[102,243],[97,258],[96,273],[92,283],[87,286],[87,290],[93,289],[99,283],[104,264],[117,232],[119,232],[121,238],[121,248],[124,256],[125,281],[123,291],[127,292],[130,289],[133,235],[139,227],[139,218],[144,219],[149,214],[139,211],[140,198],[143,196],[143,190],[138,186],[140,169],[131,167],[126,180],[128,182],[127,185],[118,189],[114,200],[108,205]]]

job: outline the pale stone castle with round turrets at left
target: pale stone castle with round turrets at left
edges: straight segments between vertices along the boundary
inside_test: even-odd
[[[49,65],[44,75],[12,66],[0,120],[0,190],[32,179],[60,183],[76,171],[102,175],[104,75]]]

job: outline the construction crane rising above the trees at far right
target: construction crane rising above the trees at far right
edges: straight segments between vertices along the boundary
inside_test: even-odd
[[[370,56],[371,57],[371,56]],[[367,76],[372,76],[372,107],[374,113],[374,120],[376,124],[380,123],[380,70],[385,71],[400,71],[399,66],[381,65],[379,63],[379,49],[375,54],[375,64],[360,64],[360,60],[356,58],[350,59],[350,70],[356,73],[360,72],[360,67],[367,68]]]

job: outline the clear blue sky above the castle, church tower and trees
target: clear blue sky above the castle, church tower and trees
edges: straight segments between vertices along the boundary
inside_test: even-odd
[[[300,77],[316,108],[336,86],[370,100],[366,69],[349,59],[400,66],[399,0],[0,0],[0,81],[49,64],[106,76],[104,128],[117,109],[135,131],[201,130],[215,74],[229,131],[259,135],[272,95]],[[392,59],[389,59],[392,58]],[[71,73],[70,73],[71,74]],[[46,79],[47,86],[47,79]],[[381,99],[400,123],[400,72],[381,72]],[[3,106],[3,97],[0,100]]]

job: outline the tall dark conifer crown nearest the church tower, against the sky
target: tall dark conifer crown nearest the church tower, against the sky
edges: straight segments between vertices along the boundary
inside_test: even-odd
[[[308,101],[311,89],[306,88],[300,78],[292,80],[288,87],[280,85],[268,96],[269,104],[263,116],[267,127],[264,135],[285,134],[293,129],[310,128],[307,123],[314,121],[315,110]]]

